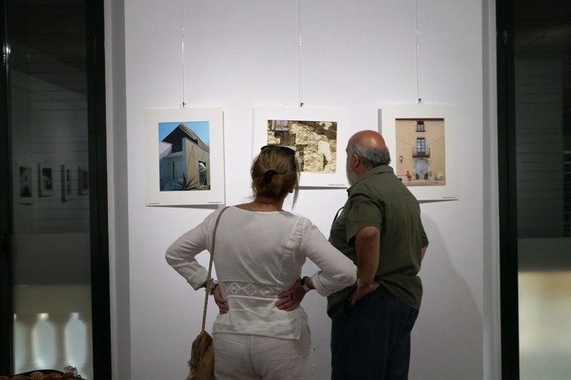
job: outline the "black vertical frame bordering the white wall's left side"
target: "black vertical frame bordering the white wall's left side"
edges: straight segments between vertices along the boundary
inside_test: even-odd
[[[86,0],[94,378],[111,379],[103,0]]]

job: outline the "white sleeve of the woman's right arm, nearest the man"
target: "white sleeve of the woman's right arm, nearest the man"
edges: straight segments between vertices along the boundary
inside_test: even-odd
[[[323,297],[357,281],[357,267],[309,220],[305,220],[301,250],[320,269],[311,279],[315,290]]]

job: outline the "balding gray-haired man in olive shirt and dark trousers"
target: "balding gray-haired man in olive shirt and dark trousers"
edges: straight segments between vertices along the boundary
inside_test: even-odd
[[[428,247],[420,205],[388,166],[379,133],[355,133],[346,151],[351,186],[329,241],[355,262],[358,280],[328,296],[331,379],[408,379]]]

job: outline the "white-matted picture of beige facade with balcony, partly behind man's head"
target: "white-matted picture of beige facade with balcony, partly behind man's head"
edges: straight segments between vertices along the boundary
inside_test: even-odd
[[[390,166],[418,200],[459,199],[458,130],[453,105],[380,108]]]

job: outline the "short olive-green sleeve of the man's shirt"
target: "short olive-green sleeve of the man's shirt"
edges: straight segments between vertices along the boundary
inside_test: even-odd
[[[365,227],[376,227],[382,231],[383,208],[378,200],[370,195],[364,192],[353,192],[348,199],[348,207],[345,207],[343,211],[346,212],[346,242],[348,244],[353,245],[353,238]]]

